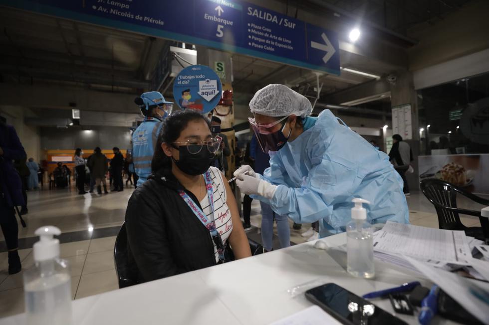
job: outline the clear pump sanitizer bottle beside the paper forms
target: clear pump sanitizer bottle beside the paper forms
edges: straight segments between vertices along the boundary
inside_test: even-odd
[[[346,225],[347,271],[353,276],[373,278],[374,243],[373,227],[367,222],[367,211],[362,203],[367,200],[355,198],[355,207],[351,209],[351,221]]]

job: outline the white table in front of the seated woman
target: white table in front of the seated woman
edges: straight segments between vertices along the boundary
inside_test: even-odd
[[[323,240],[337,246],[346,242],[346,235]],[[340,256],[346,260],[346,254]],[[311,306],[304,295],[292,298],[287,289],[315,279],[334,282],[360,296],[408,281],[418,280],[431,287],[419,274],[377,260],[375,279],[354,278],[336,260],[327,251],[315,249],[313,242],[303,243],[75,300],[74,324],[266,325]],[[393,313],[388,299],[373,302]],[[398,317],[418,324],[416,317]],[[23,325],[24,315],[2,319],[0,324]]]

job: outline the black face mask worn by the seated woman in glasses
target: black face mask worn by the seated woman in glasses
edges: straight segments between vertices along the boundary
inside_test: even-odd
[[[211,167],[212,161],[216,159],[216,155],[211,153],[206,147],[203,147],[198,153],[190,153],[186,145],[174,147],[178,149],[180,158],[175,160],[172,157],[172,159],[175,165],[188,175],[197,176],[204,174]]]

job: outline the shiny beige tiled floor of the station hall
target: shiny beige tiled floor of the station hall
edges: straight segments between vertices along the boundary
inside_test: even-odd
[[[108,195],[86,194],[78,196],[75,190],[34,191],[29,192],[29,214],[24,216],[26,228],[19,228],[20,242],[25,247],[19,250],[22,267],[25,269],[33,264],[32,242],[34,230],[42,225],[58,226],[64,233],[60,240],[61,257],[71,265],[71,285],[74,299],[116,290],[117,277],[114,269],[113,248],[117,227],[124,220],[127,201],[132,189]],[[438,227],[438,220],[433,206],[419,192],[408,197],[411,223],[415,225]],[[461,200],[459,206],[480,209],[481,206]],[[479,220],[463,217],[467,226],[477,225]],[[253,238],[260,238],[261,224],[260,206],[254,200],[251,206],[251,224],[254,229]],[[290,240],[301,243],[306,240],[300,236],[309,228],[304,224],[302,229],[292,229],[290,221]],[[276,229],[275,229],[276,234]],[[251,237],[251,235],[250,235]],[[3,240],[0,234],[0,241]],[[4,247],[0,243],[1,247]],[[275,238],[274,247],[279,248]],[[0,252],[0,317],[5,317],[24,310],[22,272],[15,275],[7,274],[7,252]]]

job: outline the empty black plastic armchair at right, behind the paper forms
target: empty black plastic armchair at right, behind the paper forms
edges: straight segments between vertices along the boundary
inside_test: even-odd
[[[425,197],[435,206],[440,229],[464,230],[467,236],[489,241],[488,218],[482,217],[481,211],[457,208],[457,193],[485,206],[489,206],[489,200],[434,178],[422,180],[420,186]],[[482,227],[466,227],[460,220],[459,214],[479,217]]]

